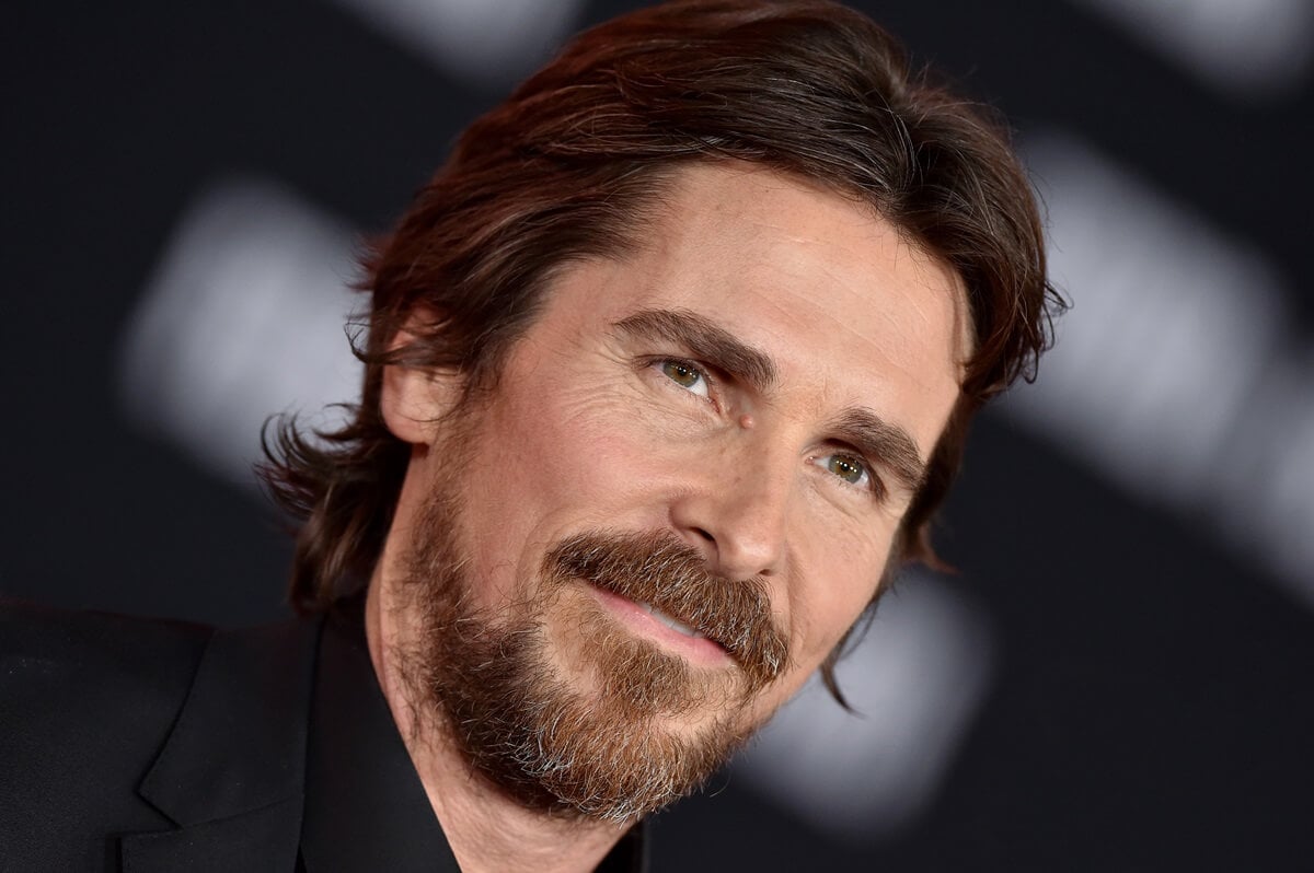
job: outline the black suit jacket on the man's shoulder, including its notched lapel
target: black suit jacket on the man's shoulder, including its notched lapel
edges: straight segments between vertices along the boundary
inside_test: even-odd
[[[292,870],[321,628],[0,609],[0,870]]]

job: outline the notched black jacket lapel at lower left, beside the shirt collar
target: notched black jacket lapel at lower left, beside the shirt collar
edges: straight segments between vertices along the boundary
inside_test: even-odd
[[[292,870],[319,621],[218,631],[138,793],[177,830],[122,839],[127,873]]]

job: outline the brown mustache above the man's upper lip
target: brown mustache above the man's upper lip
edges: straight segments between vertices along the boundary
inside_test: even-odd
[[[766,584],[707,571],[696,549],[668,533],[590,532],[564,540],[544,559],[548,576],[582,579],[641,600],[720,645],[757,692],[788,663],[788,643],[771,616]]]

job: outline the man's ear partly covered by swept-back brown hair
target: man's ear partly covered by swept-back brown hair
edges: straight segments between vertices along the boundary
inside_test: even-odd
[[[442,316],[430,307],[417,307],[389,344],[396,349],[410,343]],[[427,332],[427,331],[424,331]],[[411,445],[431,445],[439,421],[460,399],[461,375],[455,370],[389,364],[384,368],[380,399],[384,423],[393,436]]]

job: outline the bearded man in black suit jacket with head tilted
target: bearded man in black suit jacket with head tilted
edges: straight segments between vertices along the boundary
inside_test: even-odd
[[[637,869],[644,815],[838,696],[1047,341],[1005,139],[824,0],[583,34],[365,266],[355,417],[265,469],[307,618],[5,620],[16,869]]]

